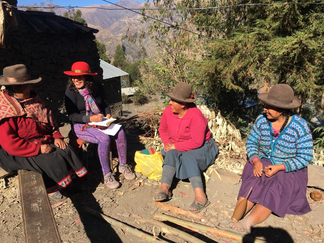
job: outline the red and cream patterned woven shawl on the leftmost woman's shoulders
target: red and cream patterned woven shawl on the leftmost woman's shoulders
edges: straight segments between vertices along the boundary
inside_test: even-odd
[[[26,115],[26,117],[43,123],[54,133],[58,131],[58,124],[52,115],[52,111],[46,107],[35,91],[32,90],[30,95],[32,98],[18,101],[9,96],[5,89],[2,89],[0,91],[0,121],[4,118]]]

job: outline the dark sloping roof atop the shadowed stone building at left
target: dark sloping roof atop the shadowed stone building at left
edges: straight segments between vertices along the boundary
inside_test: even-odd
[[[18,10],[21,20],[29,24],[37,32],[50,31],[52,33],[98,33],[98,29],[84,26],[80,22],[55,15],[51,12]]]

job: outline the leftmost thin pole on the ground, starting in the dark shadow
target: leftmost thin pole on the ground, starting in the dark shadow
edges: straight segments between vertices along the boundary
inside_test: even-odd
[[[107,221],[107,222],[108,222],[109,224],[111,224],[112,226],[115,226],[115,227],[117,227],[117,228],[120,228],[120,229],[122,229],[123,231],[127,231],[127,232],[131,233],[131,234],[134,235],[134,236],[137,236],[137,237],[139,237],[139,238],[145,239],[145,240],[148,241],[148,242],[161,242],[161,243],[167,243],[167,242],[164,241],[164,240],[161,240],[161,239],[159,239],[159,238],[157,238],[157,237],[154,237],[154,236],[151,236],[151,235],[145,234],[145,233],[139,231],[138,229],[135,229],[135,228],[133,228],[133,227],[131,227],[131,226],[125,225],[125,224],[123,224],[123,223],[121,223],[121,222],[119,222],[119,221],[117,221],[117,220],[115,220],[115,219],[113,219],[113,218],[110,218],[110,217],[108,217],[108,216],[106,216],[106,215],[104,215],[104,214],[100,214],[100,213],[99,213],[98,211],[96,211],[96,210],[93,210],[93,209],[88,208],[88,207],[84,207],[84,209],[85,209],[88,213],[90,213],[90,214],[96,216],[97,218],[100,218],[100,219],[103,219],[103,220]]]

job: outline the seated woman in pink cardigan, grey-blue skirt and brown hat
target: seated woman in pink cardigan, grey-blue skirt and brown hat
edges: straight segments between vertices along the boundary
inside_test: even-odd
[[[207,119],[193,103],[197,97],[191,91],[187,83],[181,82],[166,94],[171,98],[170,105],[164,110],[159,127],[165,159],[161,190],[154,200],[162,202],[172,197],[170,186],[174,176],[189,178],[195,193],[189,210],[198,213],[209,205],[201,171],[214,164],[218,147],[211,137]]]

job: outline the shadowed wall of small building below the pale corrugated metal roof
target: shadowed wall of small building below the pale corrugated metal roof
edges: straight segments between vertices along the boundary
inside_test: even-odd
[[[114,77],[104,79],[103,87],[107,94],[107,99],[110,104],[111,115],[122,115],[122,102],[121,102],[121,77]]]

